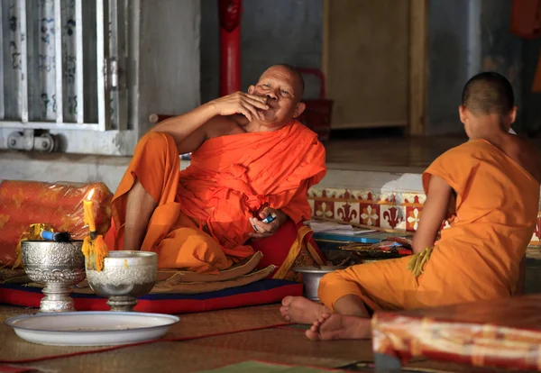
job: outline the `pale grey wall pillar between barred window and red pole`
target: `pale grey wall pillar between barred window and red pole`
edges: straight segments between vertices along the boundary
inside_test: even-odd
[[[200,105],[200,20],[199,0],[142,0],[135,105],[142,132],[150,114],[182,114]]]

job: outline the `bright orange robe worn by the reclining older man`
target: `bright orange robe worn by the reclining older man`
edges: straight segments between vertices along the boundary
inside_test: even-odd
[[[179,151],[165,133],[146,134],[135,148],[112,202],[115,250],[124,247],[127,193],[135,177],[158,202],[142,250],[158,253],[159,268],[215,272],[250,257],[249,218],[269,205],[294,223],[311,216],[307,190],[326,174],[316,133],[292,121],[275,132],[205,141],[180,171]]]

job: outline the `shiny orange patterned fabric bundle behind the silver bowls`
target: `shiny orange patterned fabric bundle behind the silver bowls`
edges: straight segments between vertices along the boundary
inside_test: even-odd
[[[111,223],[113,197],[105,184],[4,180],[0,184],[0,263],[13,262],[15,248],[32,223],[50,224],[55,232],[66,231],[74,240],[82,240],[88,234],[82,201],[88,196],[93,201],[96,231],[104,234]]]

